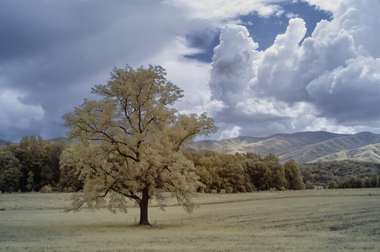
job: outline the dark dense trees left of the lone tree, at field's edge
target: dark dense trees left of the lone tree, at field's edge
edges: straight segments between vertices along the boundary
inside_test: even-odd
[[[0,148],[0,191],[76,192],[83,188],[75,169],[60,166],[66,148],[63,141],[44,141],[41,136],[25,136],[19,144]]]

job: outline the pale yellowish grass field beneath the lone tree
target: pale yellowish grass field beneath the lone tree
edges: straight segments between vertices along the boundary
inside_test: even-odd
[[[193,213],[149,208],[151,227],[56,210],[69,198],[1,194],[0,251],[380,251],[379,188],[200,194]]]

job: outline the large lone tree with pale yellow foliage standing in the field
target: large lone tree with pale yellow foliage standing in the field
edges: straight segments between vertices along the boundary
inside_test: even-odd
[[[73,210],[86,203],[126,212],[132,199],[140,206],[139,224],[149,225],[148,201],[155,197],[164,208],[165,192],[193,210],[189,196],[202,185],[180,150],[217,127],[206,113],[179,114],[172,105],[183,90],[165,75],[160,66],[114,68],[107,84],[92,88],[100,100],[85,99],[63,116],[76,143],[63,152],[61,165],[78,167],[84,180]]]

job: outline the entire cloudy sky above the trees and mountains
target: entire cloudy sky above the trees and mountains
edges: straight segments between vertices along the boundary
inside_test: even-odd
[[[380,133],[380,0],[2,0],[0,139],[65,136],[114,68],[161,65],[217,133]],[[202,137],[197,140],[203,139]]]

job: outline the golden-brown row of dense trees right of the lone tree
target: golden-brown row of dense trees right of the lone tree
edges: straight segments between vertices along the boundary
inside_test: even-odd
[[[294,160],[281,165],[270,154],[221,154],[212,151],[186,151],[195,173],[207,193],[237,193],[263,190],[302,190],[305,185]]]

